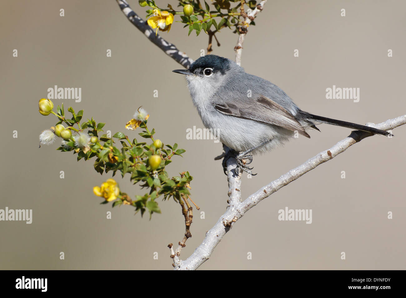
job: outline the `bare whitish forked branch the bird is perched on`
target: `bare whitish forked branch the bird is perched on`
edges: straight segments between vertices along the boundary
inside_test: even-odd
[[[397,117],[395,119],[390,119],[380,124],[367,124],[368,126],[375,127],[382,130],[391,130],[397,126],[406,124],[406,115]],[[352,133],[345,139],[339,141],[333,147],[323,152],[320,152],[315,157],[312,157],[302,165],[290,170],[286,174],[282,175],[278,179],[272,181],[270,184],[262,187],[257,192],[250,195],[243,202],[238,199],[240,191],[236,191],[234,188],[240,189],[241,176],[235,176],[230,174],[230,172],[235,171],[236,161],[235,159],[229,159],[227,161],[227,171],[229,179],[229,205],[227,206],[226,212],[218,219],[217,223],[206,233],[206,237],[203,242],[197,247],[197,249],[192,253],[188,259],[182,261],[179,260],[175,264],[175,270],[195,270],[201,264],[203,264],[216,248],[217,244],[220,242],[222,237],[231,229],[233,224],[240,219],[245,212],[253,208],[259,202],[261,202],[266,197],[269,197],[272,193],[278,191],[285,185],[296,180],[300,176],[311,171],[318,165],[333,159],[335,156],[344,152],[350,146],[361,141],[365,137],[372,136],[371,133],[363,131],[352,131]],[[234,190],[233,190],[234,189]]]

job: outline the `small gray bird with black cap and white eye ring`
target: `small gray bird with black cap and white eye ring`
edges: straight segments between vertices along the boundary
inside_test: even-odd
[[[271,151],[297,134],[310,138],[320,123],[343,126],[372,134],[393,136],[373,127],[335,120],[302,111],[270,81],[246,73],[233,60],[205,55],[189,69],[174,73],[186,76],[194,106],[207,129],[230,150],[227,159],[237,160],[237,169],[252,174],[253,155]],[[225,170],[223,160],[223,169]]]

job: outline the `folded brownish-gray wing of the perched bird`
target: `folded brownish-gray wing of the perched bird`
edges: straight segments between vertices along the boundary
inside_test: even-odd
[[[240,107],[233,103],[215,103],[214,107],[224,115],[274,124],[290,131],[298,131],[301,135],[310,138],[310,135],[292,114],[263,95],[256,99],[252,98],[249,103],[246,102]]]

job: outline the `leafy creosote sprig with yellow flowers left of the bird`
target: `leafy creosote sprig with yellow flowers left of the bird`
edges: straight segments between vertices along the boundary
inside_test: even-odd
[[[39,101],[39,112],[42,115],[53,114],[58,118],[55,126],[41,133],[40,144],[50,145],[60,139],[62,144],[57,150],[77,154],[78,161],[88,161],[94,157],[93,167],[96,172],[112,172],[112,176],[119,172],[122,177],[127,174],[134,184],[138,183],[141,189],[148,190],[144,195],[136,195],[132,199],[121,191],[114,179],[109,178],[100,187],[93,188],[95,195],[104,198],[102,204],[112,202],[113,207],[130,205],[135,207],[136,213],[140,211],[141,216],[148,210],[151,218],[153,213],[161,213],[156,200],[159,197],[163,197],[163,200],[172,197],[181,205],[182,212],[185,212],[184,204],[187,204],[187,213],[190,215],[185,221],[190,227],[192,210],[188,199],[189,184],[193,178],[189,172],[182,172],[180,176],[175,177],[169,177],[166,172],[166,166],[172,163],[173,157],[181,156],[186,150],[178,148],[176,143],[172,146],[164,145],[159,139],[154,139],[155,129],[148,129],[149,114],[144,109],[140,107],[136,111],[134,118],[127,122],[126,128],[143,129],[138,135],[150,140],[150,143],[135,138],[130,141],[122,132],[115,133],[112,137],[101,134],[105,123],[97,123],[93,118],[82,121],[83,110],[76,113],[69,107],[71,116],[66,116],[63,104],[56,108],[56,112],[53,108],[54,104],[49,99]],[[119,146],[116,142],[119,142]]]

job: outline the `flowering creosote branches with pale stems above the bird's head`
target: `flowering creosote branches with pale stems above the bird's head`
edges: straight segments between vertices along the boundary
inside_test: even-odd
[[[116,0],[121,11],[138,30],[156,46],[162,49],[168,56],[189,68],[193,60],[177,47],[158,35],[158,31],[169,32],[173,22],[184,24],[188,35],[196,32],[199,35],[204,32],[208,35],[207,54],[212,52],[212,40],[216,39],[217,46],[220,42],[216,36],[222,29],[230,29],[238,34],[238,42],[235,46],[235,58],[241,64],[242,45],[248,26],[255,25],[254,19],[259,11],[262,11],[266,0],[257,4],[256,0],[214,0],[207,3],[204,0],[178,0],[174,9],[171,4],[167,7],[159,6],[154,0],[139,0],[141,7],[147,7],[147,21],[139,17],[130,7],[126,0]]]

